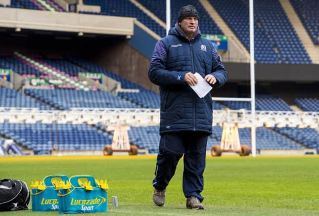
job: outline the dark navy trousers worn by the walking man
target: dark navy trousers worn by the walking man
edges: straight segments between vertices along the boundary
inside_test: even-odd
[[[175,174],[178,160],[184,154],[183,192],[202,201],[206,146],[208,135],[201,132],[176,132],[161,135],[153,186],[164,190]]]

